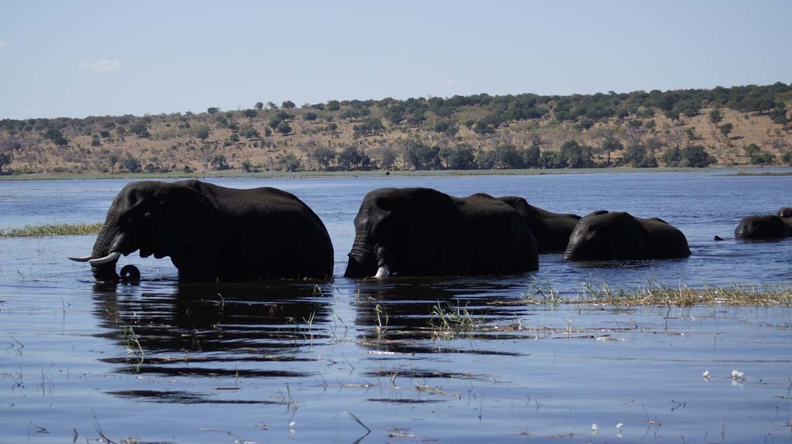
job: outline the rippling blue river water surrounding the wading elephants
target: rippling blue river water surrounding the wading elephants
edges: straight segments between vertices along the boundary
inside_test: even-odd
[[[325,222],[339,276],[360,200],[383,186],[658,216],[686,234],[692,255],[570,264],[550,254],[525,275],[222,287],[180,285],[169,260],[131,255],[119,266],[138,265],[143,282],[108,287],[65,259],[88,254],[91,236],[2,239],[0,442],[792,438],[790,308],[525,302],[537,280],[569,294],[584,281],[786,285],[792,241],[737,242],[733,229],[746,214],[789,206],[792,176],[212,181],[298,195]],[[101,222],[124,184],[0,182],[0,228]],[[440,328],[440,312],[476,327]]]

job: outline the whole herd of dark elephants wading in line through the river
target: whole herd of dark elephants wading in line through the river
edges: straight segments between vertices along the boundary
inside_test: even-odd
[[[792,208],[748,216],[737,238],[792,236]],[[234,189],[200,180],[141,181],[109,208],[88,262],[99,281],[138,279],[120,256],[169,256],[181,281],[326,279],[333,245],[303,201],[276,188]],[[521,197],[459,198],[432,188],[379,188],[355,217],[345,277],[485,275],[533,271],[539,253],[565,260],[690,256],[684,234],[660,218],[595,211],[581,218],[533,207]]]

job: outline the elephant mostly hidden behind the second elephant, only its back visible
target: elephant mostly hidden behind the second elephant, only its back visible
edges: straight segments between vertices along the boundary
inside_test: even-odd
[[[523,216],[523,221],[536,238],[540,253],[564,251],[569,243],[569,235],[575,229],[577,221],[581,220],[577,214],[552,213],[534,207],[522,197],[508,195],[498,199],[514,207]]]

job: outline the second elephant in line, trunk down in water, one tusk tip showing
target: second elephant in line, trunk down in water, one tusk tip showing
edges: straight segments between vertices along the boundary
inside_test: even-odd
[[[355,217],[345,277],[485,275],[539,269],[536,241],[514,208],[486,194],[379,188]]]

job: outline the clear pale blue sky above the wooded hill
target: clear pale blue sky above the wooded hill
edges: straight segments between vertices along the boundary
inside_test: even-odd
[[[792,1],[2,0],[0,119],[792,82]]]

